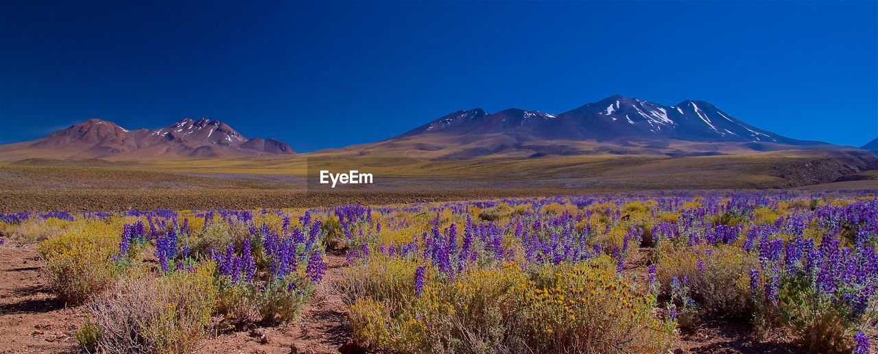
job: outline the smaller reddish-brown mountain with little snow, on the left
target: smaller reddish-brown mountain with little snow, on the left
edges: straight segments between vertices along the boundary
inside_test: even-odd
[[[173,159],[294,153],[273,138],[244,138],[219,120],[184,118],[159,130],[129,131],[89,119],[38,140],[0,145],[0,159]]]

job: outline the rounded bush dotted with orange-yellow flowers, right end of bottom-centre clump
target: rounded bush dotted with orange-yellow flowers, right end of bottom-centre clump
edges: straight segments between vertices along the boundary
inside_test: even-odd
[[[673,321],[656,299],[615,273],[606,256],[591,264],[546,266],[522,301],[527,342],[536,352],[666,352]]]

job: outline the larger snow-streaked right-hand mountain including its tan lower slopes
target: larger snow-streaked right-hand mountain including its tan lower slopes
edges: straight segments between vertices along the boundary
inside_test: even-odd
[[[493,114],[479,108],[458,110],[397,137],[348,150],[471,158],[522,153],[685,156],[802,148],[841,147],[759,129],[704,101],[666,106],[615,95],[557,114],[515,108]]]

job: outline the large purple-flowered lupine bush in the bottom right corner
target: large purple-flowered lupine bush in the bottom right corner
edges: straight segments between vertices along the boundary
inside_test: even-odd
[[[817,247],[778,239],[760,249],[751,284],[759,330],[785,329],[811,352],[849,352],[856,331],[874,330],[878,257],[871,247],[841,247],[839,237],[824,236]]]

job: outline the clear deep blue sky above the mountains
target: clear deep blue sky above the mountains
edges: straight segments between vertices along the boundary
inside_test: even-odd
[[[874,1],[126,3],[0,4],[0,143],[210,117],[307,152],[613,94],[701,99],[792,138],[878,136]]]

